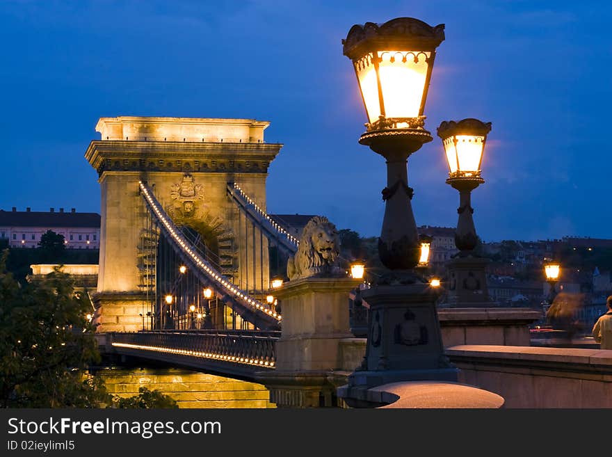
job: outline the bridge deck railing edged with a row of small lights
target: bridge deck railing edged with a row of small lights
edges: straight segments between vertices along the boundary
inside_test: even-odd
[[[227,330],[154,331],[113,333],[115,350],[163,353],[272,369],[276,364],[275,343],[280,332]]]

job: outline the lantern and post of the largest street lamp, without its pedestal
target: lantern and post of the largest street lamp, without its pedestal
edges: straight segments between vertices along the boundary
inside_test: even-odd
[[[369,120],[359,142],[387,161],[378,252],[391,270],[408,270],[419,262],[419,234],[410,205],[406,162],[433,139],[424,129],[423,113],[435,49],[443,40],[444,24],[432,27],[411,17],[382,25],[354,25],[342,40],[344,55],[353,61]]]

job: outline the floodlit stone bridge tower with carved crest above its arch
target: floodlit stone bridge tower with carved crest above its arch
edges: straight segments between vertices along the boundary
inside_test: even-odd
[[[227,183],[235,182],[266,208],[268,166],[282,147],[264,143],[268,125],[252,119],[99,119],[102,138],[85,154],[97,170],[102,196],[92,297],[98,331],[145,325],[140,314],[152,292],[146,280],[152,266],[143,261],[143,250],[156,246],[156,233],[146,227],[139,181],[147,182],[175,223],[214,246],[222,273],[234,284],[254,294],[268,289],[268,241],[227,196]]]

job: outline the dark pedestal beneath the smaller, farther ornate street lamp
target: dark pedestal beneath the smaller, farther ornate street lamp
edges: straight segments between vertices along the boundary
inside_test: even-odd
[[[489,262],[491,262],[490,259],[466,256],[455,257],[446,263],[449,269],[449,306],[491,305],[486,275],[486,266]]]

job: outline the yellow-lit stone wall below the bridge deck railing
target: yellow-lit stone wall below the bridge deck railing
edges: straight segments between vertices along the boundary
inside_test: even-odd
[[[104,369],[109,393],[138,394],[138,387],[160,390],[175,399],[179,408],[275,408],[261,384],[186,369]]]

